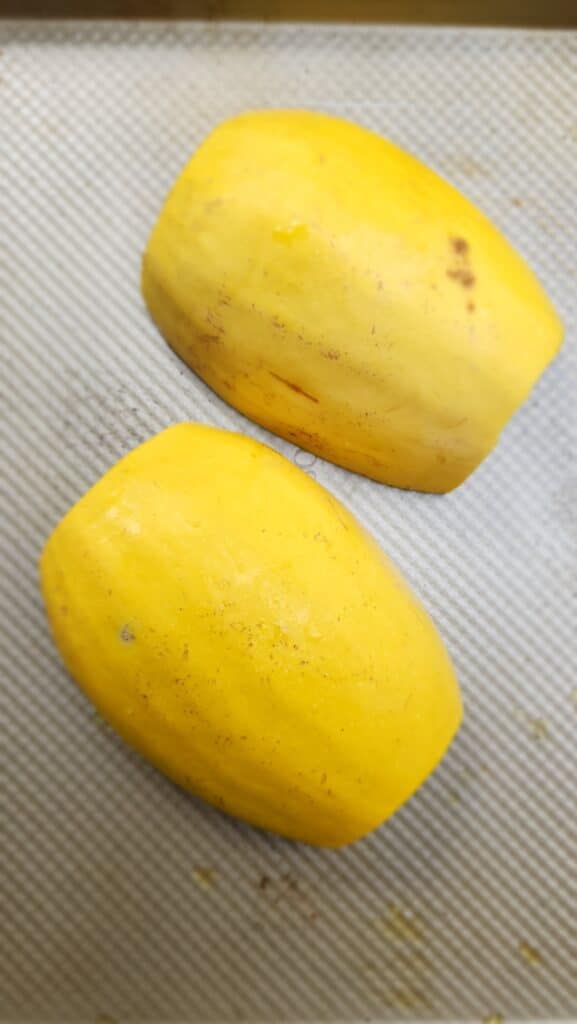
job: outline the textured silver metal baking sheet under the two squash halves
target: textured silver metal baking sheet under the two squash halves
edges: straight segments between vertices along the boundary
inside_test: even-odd
[[[577,49],[386,28],[0,29],[0,1018],[577,1016]],[[477,201],[540,273],[561,357],[459,490],[379,486],[226,408],[138,293],[166,189],[246,108],[341,114]],[[344,851],[219,815],[129,751],[58,663],[41,546],[181,419],[338,495],[438,621],[465,701],[441,768]],[[97,656],[97,655],[96,655]]]

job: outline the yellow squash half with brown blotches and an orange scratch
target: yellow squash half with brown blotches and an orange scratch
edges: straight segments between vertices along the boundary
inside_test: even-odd
[[[459,484],[555,354],[536,278],[464,197],[313,113],[220,125],[170,193],[142,290],[231,404],[376,480]]]

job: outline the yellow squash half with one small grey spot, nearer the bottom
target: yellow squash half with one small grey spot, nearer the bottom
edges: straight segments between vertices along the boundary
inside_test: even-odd
[[[65,516],[42,588],[72,676],[193,793],[339,846],[386,818],[459,724],[431,622],[353,516],[269,447],[180,424]]]

